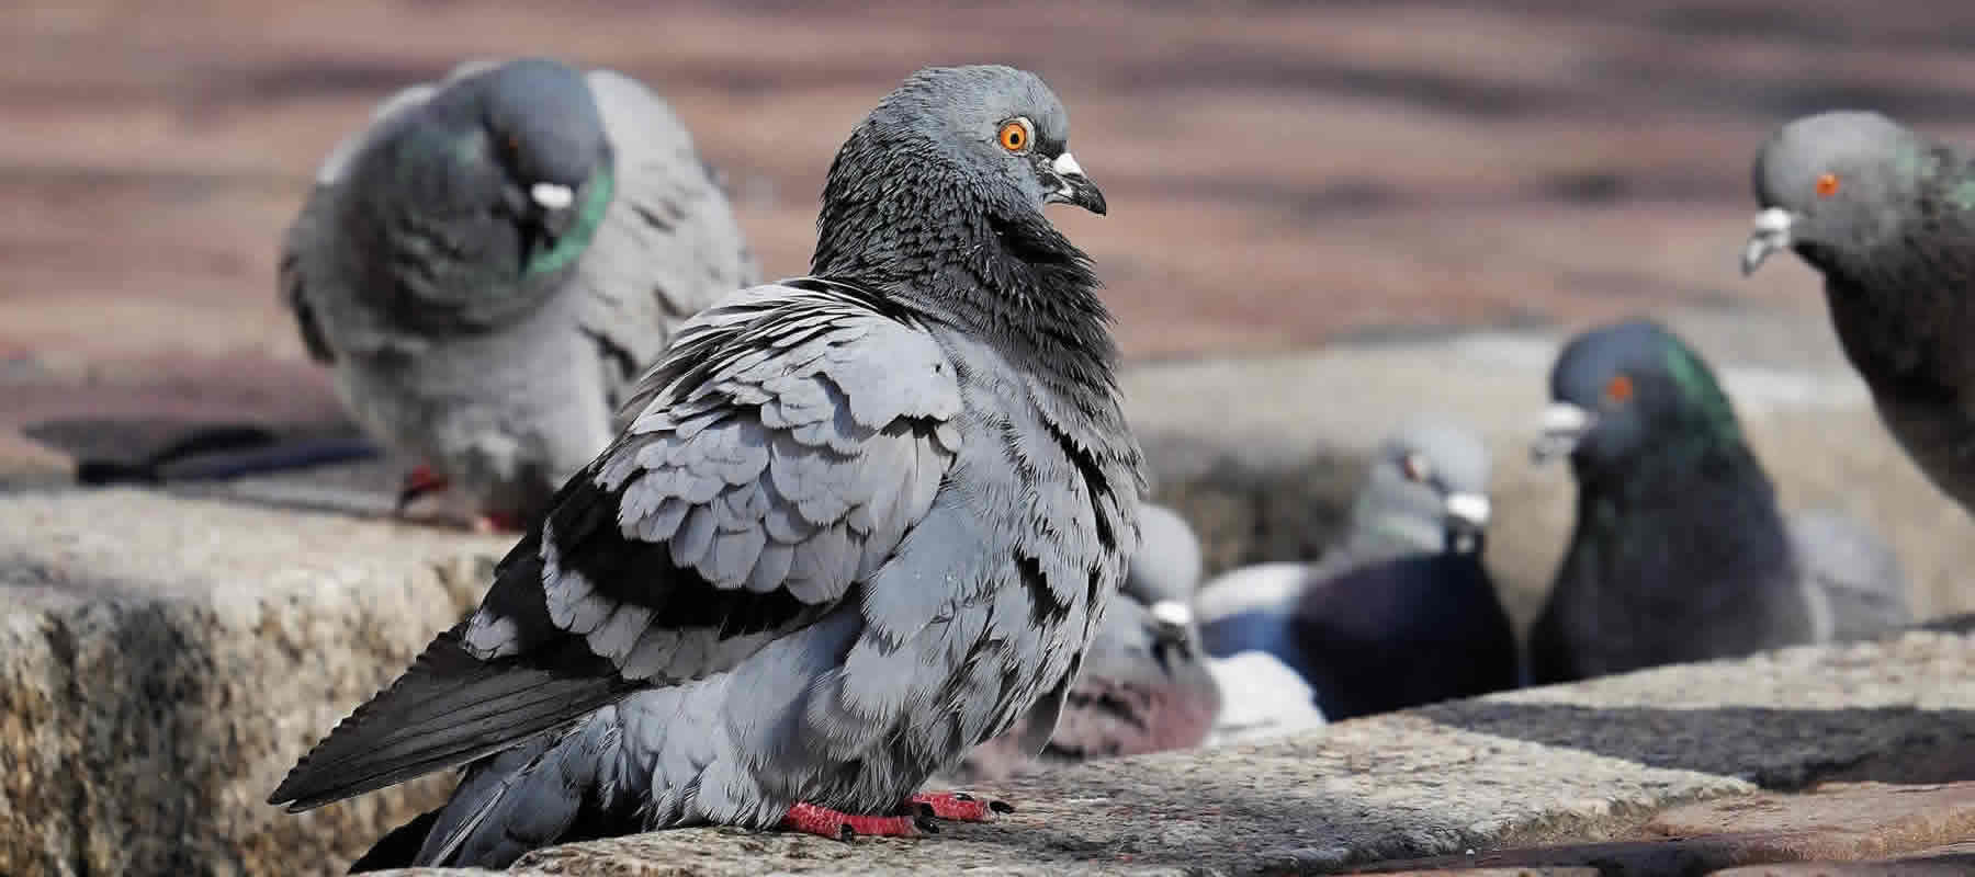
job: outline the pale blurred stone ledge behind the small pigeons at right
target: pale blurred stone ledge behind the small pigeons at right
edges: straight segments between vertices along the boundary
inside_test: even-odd
[[[1714,363],[1785,508],[1839,508],[1876,525],[1906,565],[1918,616],[1975,608],[1975,518],[1886,435],[1823,316],[1689,310],[1667,322]],[[1576,504],[1568,466],[1529,460],[1560,338],[1463,332],[1146,363],[1124,387],[1153,492],[1197,523],[1211,571],[1321,553],[1386,431],[1420,411],[1467,421],[1495,458],[1487,563],[1527,622]]]

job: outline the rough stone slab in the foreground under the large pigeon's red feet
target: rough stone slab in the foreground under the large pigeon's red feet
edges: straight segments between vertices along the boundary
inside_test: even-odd
[[[1758,792],[1752,780],[1797,788],[1868,757],[1900,760],[1932,747],[1975,743],[1969,666],[1975,640],[1957,632],[1799,648],[1345,721],[1266,745],[1126,758],[988,784],[978,790],[1013,802],[1013,816],[991,826],[948,826],[926,841],[837,843],[677,830],[541,849],[515,871],[752,877],[976,869],[1323,873],[1377,861],[1388,861],[1381,867],[1602,867],[1606,859],[1525,863],[1495,861],[1489,853],[1592,841],[1594,851],[1618,855],[1614,861],[1679,867],[1629,873],[1700,873],[1687,865],[1748,859],[1724,857],[1720,849],[1732,847],[1722,839],[1681,847],[1635,837],[1645,837],[1655,818],[1679,818],[1663,816],[1671,806],[1768,800],[1752,798]],[[1967,812],[1967,786],[1941,794],[1959,816],[1936,828],[1957,826],[1953,820]],[[1924,798],[1930,808],[1941,802],[1928,792],[1910,800]],[[1900,830],[1934,818],[1928,808],[1900,816],[1886,806],[1862,806]],[[1880,849],[1939,841],[1926,832],[1902,837],[1898,845],[1880,837]],[[1847,849],[1872,845],[1858,841]],[[1424,855],[1446,859],[1390,861]]]

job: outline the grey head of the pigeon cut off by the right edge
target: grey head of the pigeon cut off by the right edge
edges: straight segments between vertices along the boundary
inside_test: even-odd
[[[1900,233],[1926,146],[1878,113],[1823,113],[1778,128],[1756,154],[1756,227],[1742,249],[1754,275],[1795,249],[1823,269]]]

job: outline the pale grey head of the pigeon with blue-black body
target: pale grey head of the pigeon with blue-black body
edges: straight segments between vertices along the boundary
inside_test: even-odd
[[[1422,551],[1479,551],[1489,519],[1489,456],[1481,440],[1440,417],[1416,417],[1373,458],[1353,527]]]

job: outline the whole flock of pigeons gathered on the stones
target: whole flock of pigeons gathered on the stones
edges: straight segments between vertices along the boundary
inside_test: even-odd
[[[472,61],[387,99],[282,237],[280,296],[401,506],[458,498],[517,543],[271,802],[460,770],[356,871],[695,824],[924,836],[1011,810],[928,784],[1910,620],[1884,541],[1785,516],[1700,352],[1643,318],[1550,373],[1531,452],[1568,460],[1578,518],[1527,642],[1483,565],[1489,450],[1430,413],[1319,559],[1203,581],[1146,502],[1096,267],[1045,211],[1106,213],[1094,180],[1037,75],[922,69],[830,164],[808,275],[760,284],[630,77]],[[1975,500],[1975,166],[1829,113],[1754,184],[1744,271],[1819,269],[1892,435]]]

